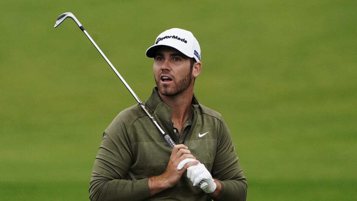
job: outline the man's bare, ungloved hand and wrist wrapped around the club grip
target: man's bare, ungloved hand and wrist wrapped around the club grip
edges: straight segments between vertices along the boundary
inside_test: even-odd
[[[155,195],[167,188],[171,188],[176,185],[176,183],[181,179],[183,172],[187,170],[188,167],[197,165],[198,161],[193,161],[186,163],[186,165],[181,169],[177,170],[178,163],[180,163],[185,158],[196,159],[191,154],[184,144],[177,144],[174,146],[171,152],[170,161],[167,164],[166,171],[157,177],[149,178],[149,189],[151,195]]]

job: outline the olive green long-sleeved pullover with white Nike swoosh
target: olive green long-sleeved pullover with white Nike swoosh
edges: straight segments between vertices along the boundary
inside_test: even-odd
[[[246,178],[219,113],[199,104],[193,95],[193,115],[178,135],[171,122],[171,107],[162,102],[156,87],[144,104],[175,143],[185,144],[221,183],[215,200],[246,200]],[[90,200],[211,200],[199,186],[192,186],[186,173],[174,187],[150,196],[148,178],[165,172],[171,151],[139,104],[120,112],[103,133],[90,181]]]

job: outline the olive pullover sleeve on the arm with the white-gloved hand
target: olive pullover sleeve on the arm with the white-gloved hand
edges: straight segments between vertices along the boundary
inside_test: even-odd
[[[227,125],[222,119],[223,131],[218,137],[217,152],[212,167],[212,176],[217,179],[222,190],[214,200],[245,201],[247,182],[238,162],[238,157]]]

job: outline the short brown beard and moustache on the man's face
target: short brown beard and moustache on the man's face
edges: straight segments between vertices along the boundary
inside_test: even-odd
[[[162,72],[164,73],[164,71]],[[161,74],[162,74],[161,73]],[[160,75],[161,75],[160,74]],[[168,73],[167,73],[168,74]],[[165,84],[160,82],[160,75],[155,78],[156,86],[159,89],[159,92],[162,95],[166,96],[176,96],[184,92],[188,87],[190,87],[190,84],[192,82],[192,68],[190,68],[190,72],[188,72],[182,79],[176,80],[174,75],[170,75],[172,77],[172,82],[170,84]]]

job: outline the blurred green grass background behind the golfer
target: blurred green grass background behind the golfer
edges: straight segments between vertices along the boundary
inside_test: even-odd
[[[357,197],[357,1],[1,1],[0,200],[88,200],[102,132],[145,100],[162,31],[201,45],[200,102],[225,118],[248,201]],[[154,133],[153,133],[154,134]],[[158,134],[158,133],[157,133]]]

